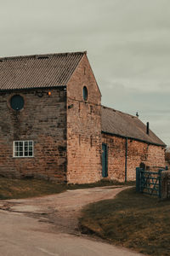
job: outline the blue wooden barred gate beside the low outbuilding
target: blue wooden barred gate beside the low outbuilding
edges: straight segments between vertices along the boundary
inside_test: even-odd
[[[161,171],[148,172],[136,168],[136,191],[161,198]]]

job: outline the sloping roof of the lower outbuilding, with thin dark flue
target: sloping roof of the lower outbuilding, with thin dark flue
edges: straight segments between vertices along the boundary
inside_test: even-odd
[[[155,133],[146,133],[146,125],[136,116],[122,113],[113,108],[101,108],[101,128],[103,132],[121,137],[134,138],[146,143],[166,146]]]

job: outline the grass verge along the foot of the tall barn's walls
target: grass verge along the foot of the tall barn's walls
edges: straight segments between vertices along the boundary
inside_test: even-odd
[[[57,194],[66,189],[88,189],[108,185],[123,185],[116,181],[101,180],[98,183],[89,184],[56,184],[38,179],[11,179],[0,177],[0,200],[19,199],[32,196]],[[126,183],[131,185],[132,183]]]

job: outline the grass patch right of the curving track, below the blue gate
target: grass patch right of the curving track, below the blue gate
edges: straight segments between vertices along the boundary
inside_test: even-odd
[[[82,230],[150,255],[170,255],[170,201],[126,189],[113,200],[88,205]]]

